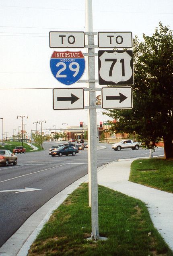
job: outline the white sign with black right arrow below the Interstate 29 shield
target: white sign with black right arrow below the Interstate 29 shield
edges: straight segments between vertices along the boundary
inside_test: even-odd
[[[71,88],[53,89],[53,108],[60,109],[83,109],[84,108],[84,89]]]

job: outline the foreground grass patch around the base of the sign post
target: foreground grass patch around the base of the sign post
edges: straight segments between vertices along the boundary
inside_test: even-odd
[[[51,215],[28,256],[173,256],[143,202],[100,185],[98,193],[99,235],[107,241],[85,240],[91,236],[91,208],[88,183],[82,183]]]

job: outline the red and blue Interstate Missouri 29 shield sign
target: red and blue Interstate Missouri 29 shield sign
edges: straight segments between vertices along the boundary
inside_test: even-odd
[[[56,52],[50,59],[50,68],[54,77],[65,85],[76,83],[85,71],[85,59],[81,51]]]

